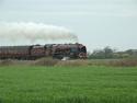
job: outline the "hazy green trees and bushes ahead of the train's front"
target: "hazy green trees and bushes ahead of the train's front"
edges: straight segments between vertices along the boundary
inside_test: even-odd
[[[116,52],[111,47],[95,49],[93,53],[88,53],[89,59],[118,59],[118,58],[137,58],[137,49],[127,49],[125,52]]]

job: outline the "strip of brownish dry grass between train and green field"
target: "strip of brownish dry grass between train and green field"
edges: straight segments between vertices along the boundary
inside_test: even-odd
[[[0,66],[58,66],[58,67],[80,67],[80,66],[111,66],[111,67],[137,67],[136,58],[128,59],[77,59],[77,60],[57,60],[53,58],[39,58],[36,60],[0,60]]]

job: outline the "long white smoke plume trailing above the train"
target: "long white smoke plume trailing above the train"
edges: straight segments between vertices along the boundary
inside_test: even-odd
[[[61,26],[43,23],[1,23],[0,39],[19,41],[71,41],[78,42],[77,35]]]

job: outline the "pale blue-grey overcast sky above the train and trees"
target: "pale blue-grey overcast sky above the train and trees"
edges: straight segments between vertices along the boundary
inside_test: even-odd
[[[3,22],[66,27],[91,52],[137,49],[137,0],[0,0]]]

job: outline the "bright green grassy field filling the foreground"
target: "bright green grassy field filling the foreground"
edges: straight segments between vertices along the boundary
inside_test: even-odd
[[[137,67],[0,67],[0,103],[137,103]]]

